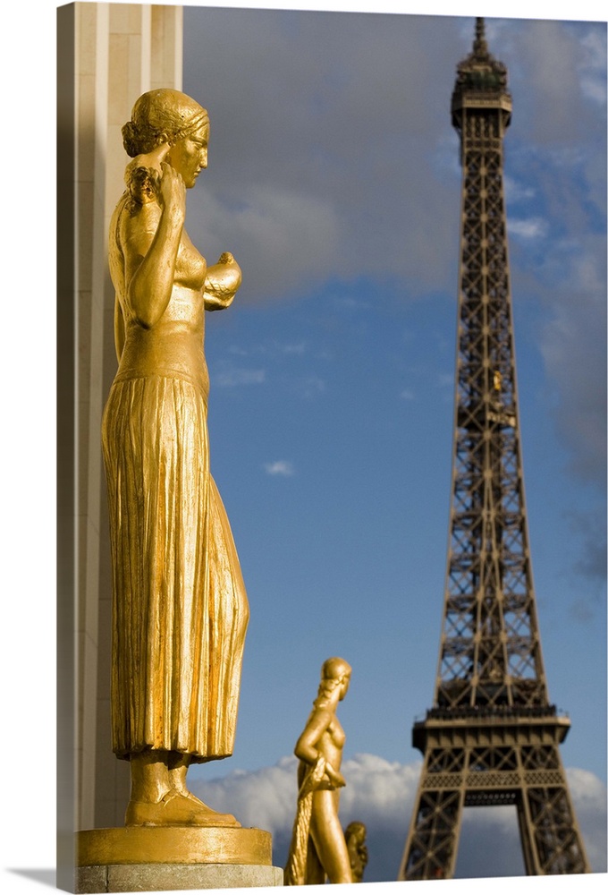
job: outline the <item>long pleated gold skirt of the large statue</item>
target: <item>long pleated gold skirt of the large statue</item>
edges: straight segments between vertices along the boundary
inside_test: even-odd
[[[114,752],[232,754],[249,607],[209,473],[205,396],[182,379],[115,381],[103,447]]]

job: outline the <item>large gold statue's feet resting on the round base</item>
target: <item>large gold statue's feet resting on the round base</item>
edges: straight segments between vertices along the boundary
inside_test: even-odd
[[[128,827],[240,827],[232,814],[219,814],[192,793],[170,789],[160,802],[136,802],[127,806]]]

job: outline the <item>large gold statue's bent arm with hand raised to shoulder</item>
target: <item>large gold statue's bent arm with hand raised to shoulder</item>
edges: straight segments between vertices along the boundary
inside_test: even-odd
[[[177,253],[186,216],[186,187],[181,175],[163,163],[162,207],[148,203],[124,221],[124,299],[139,326],[160,320],[171,299]],[[153,219],[155,226],[150,226]]]

